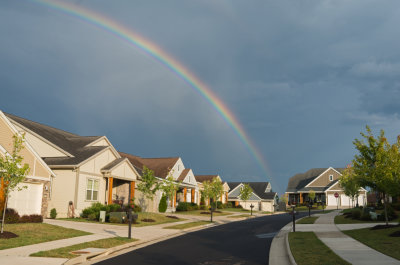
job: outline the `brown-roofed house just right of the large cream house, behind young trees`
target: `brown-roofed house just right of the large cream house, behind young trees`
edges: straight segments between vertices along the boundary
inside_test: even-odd
[[[140,172],[143,170],[143,167],[146,166],[154,171],[154,176],[160,181],[171,175],[176,182],[180,182],[180,187],[174,199],[168,200],[169,210],[173,210],[179,202],[200,202],[199,188],[193,171],[189,168],[185,168],[180,157],[143,158],[123,152],[119,152],[119,154],[129,159]],[[152,201],[144,198],[137,189],[135,190],[135,194],[135,202],[144,207],[146,211],[158,212],[162,191],[158,191]]]

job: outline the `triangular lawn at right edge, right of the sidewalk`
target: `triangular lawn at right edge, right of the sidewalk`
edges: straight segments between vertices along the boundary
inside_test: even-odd
[[[383,254],[400,260],[400,237],[389,236],[389,234],[396,231],[400,233],[400,227],[380,230],[364,228],[342,232]]]

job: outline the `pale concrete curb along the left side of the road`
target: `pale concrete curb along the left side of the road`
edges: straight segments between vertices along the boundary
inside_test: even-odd
[[[206,228],[210,228],[210,227],[214,227],[214,226],[218,226],[218,225],[222,225],[219,223],[212,223],[212,224],[207,224],[207,225],[203,225],[200,227],[192,227],[192,228],[188,228],[188,229],[183,229],[181,231],[178,231],[176,233],[170,234],[168,236],[164,236],[164,237],[159,237],[159,238],[155,238],[152,240],[147,240],[147,241],[135,241],[135,242],[131,242],[131,243],[127,243],[124,245],[119,245],[119,246],[115,246],[109,249],[106,249],[102,252],[98,252],[98,253],[91,253],[91,254],[84,254],[84,255],[80,255],[76,258],[72,258],[70,260],[67,260],[66,262],[63,263],[63,265],[77,265],[77,264],[82,264],[88,261],[95,261],[97,259],[100,258],[104,258],[107,257],[111,254],[114,254],[116,252],[119,252],[121,250],[125,250],[131,247],[138,247],[141,245],[146,245],[148,243],[157,243],[157,242],[161,242],[167,239],[171,239],[177,236],[182,236],[191,232],[196,232],[198,230],[202,230],[202,229],[206,229]]]

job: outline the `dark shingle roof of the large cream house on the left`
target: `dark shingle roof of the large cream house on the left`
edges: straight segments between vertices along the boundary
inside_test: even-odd
[[[78,165],[96,153],[106,149],[107,146],[86,146],[102,136],[79,136],[67,131],[53,128],[38,122],[24,119],[12,114],[4,113],[11,121],[20,124],[26,129],[46,139],[48,142],[64,150],[65,157],[42,157],[49,166],[70,166]]]

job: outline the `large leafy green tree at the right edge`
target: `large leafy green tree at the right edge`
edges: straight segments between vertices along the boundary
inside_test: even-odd
[[[381,130],[377,138],[366,126],[367,133],[361,133],[366,140],[355,139],[354,145],[359,154],[353,160],[355,178],[361,187],[370,187],[383,194],[385,205],[385,220],[388,225],[387,202],[388,195],[396,196],[400,193],[400,138],[397,143],[390,145]]]

